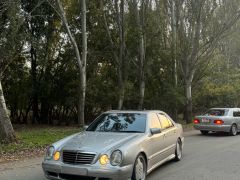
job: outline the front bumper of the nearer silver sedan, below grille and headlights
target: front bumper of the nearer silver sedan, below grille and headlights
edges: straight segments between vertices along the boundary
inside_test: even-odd
[[[132,165],[123,167],[101,166],[98,164],[71,165],[59,161],[44,161],[42,168],[45,176],[53,180],[84,179],[84,177],[99,180],[127,180],[131,179],[133,170]]]

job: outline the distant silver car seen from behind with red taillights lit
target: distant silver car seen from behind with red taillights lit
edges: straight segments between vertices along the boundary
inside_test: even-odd
[[[202,134],[228,132],[235,136],[240,131],[240,108],[212,108],[193,120],[194,128]]]

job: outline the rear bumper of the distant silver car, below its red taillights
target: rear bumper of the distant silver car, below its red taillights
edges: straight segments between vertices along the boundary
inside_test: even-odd
[[[205,124],[196,124],[194,125],[196,130],[200,131],[215,131],[215,132],[229,132],[231,125],[205,125]]]

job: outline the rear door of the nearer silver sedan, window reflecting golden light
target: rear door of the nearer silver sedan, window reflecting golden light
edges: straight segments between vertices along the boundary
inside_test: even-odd
[[[170,117],[164,113],[158,113],[158,117],[162,126],[162,133],[164,134],[164,142],[166,146],[165,156],[168,157],[175,153],[177,142],[177,127],[174,125]]]

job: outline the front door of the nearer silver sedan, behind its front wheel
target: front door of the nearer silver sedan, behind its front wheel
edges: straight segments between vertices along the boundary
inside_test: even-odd
[[[149,128],[160,128],[161,123],[157,117],[156,113],[150,113],[149,115]],[[148,168],[152,168],[154,165],[162,161],[165,157],[164,149],[165,142],[164,142],[164,133],[158,133],[154,135],[149,135],[149,139],[147,142],[148,147],[148,157],[149,163]]]

